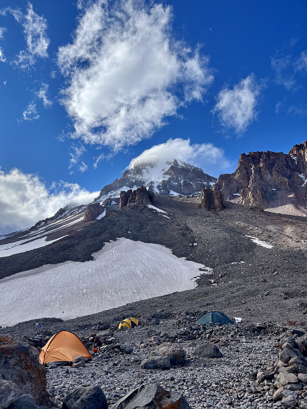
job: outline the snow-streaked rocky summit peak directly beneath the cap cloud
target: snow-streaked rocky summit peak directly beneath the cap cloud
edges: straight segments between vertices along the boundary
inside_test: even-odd
[[[136,189],[142,185],[149,191],[163,195],[173,194],[172,192],[189,195],[201,192],[201,189],[211,187],[217,181],[200,168],[176,159],[173,162],[166,161],[161,169],[158,166],[160,165],[146,164],[125,171],[120,179],[115,179],[101,190],[95,202],[102,202],[110,195],[118,197],[120,190]]]

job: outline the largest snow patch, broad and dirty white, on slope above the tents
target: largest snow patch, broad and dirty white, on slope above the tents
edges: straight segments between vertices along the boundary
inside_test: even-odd
[[[167,247],[126,238],[106,243],[93,257],[85,263],[43,265],[0,280],[0,325],[43,317],[71,319],[192,290],[196,276],[212,273],[174,256]],[[206,271],[200,273],[200,268]]]

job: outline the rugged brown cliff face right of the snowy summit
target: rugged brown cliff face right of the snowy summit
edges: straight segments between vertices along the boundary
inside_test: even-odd
[[[276,213],[306,215],[307,142],[282,152],[242,153],[237,170],[219,176],[226,200]]]

